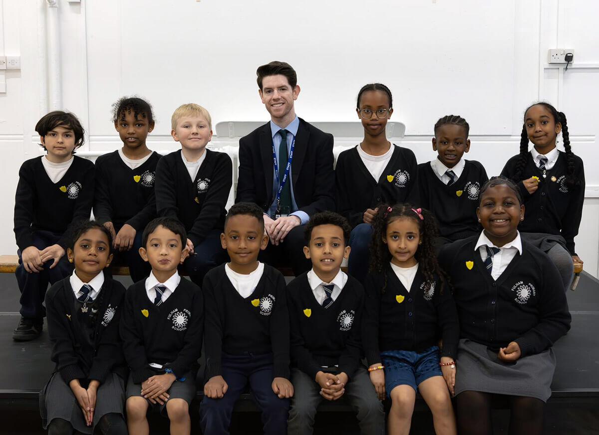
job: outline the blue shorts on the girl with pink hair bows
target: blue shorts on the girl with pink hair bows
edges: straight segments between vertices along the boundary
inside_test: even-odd
[[[441,354],[437,346],[418,353],[407,350],[388,350],[380,354],[385,366],[385,390],[391,397],[391,390],[398,385],[410,385],[418,391],[420,382],[432,376],[443,376],[439,362]]]

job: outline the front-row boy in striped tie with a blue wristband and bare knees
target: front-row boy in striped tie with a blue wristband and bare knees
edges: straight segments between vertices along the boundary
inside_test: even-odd
[[[189,403],[195,397],[202,348],[204,299],[198,286],[177,272],[186,253],[183,225],[158,217],[144,230],[140,255],[152,265],[150,276],[125,295],[120,324],[127,382],[129,433],[148,434],[147,409],[159,405],[171,421],[171,434],[189,434]]]

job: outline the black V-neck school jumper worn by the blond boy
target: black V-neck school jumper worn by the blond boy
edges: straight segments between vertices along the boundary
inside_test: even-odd
[[[193,181],[180,150],[165,155],[156,166],[158,215],[179,219],[193,246],[201,243],[212,229],[223,229],[232,186],[231,157],[210,149],[205,153]]]

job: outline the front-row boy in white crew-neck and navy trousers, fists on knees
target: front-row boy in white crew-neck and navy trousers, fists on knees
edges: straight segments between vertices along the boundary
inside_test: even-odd
[[[268,244],[262,209],[231,207],[220,235],[231,262],[204,278],[206,372],[199,408],[202,433],[229,433],[235,401],[249,382],[262,410],[264,433],[287,433],[289,397],[289,313],[285,279],[258,262]]]

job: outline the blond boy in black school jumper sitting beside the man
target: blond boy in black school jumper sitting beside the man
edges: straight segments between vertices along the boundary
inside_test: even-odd
[[[171,135],[181,143],[181,151],[165,155],[156,166],[158,215],[183,223],[189,255],[184,267],[198,286],[206,272],[226,261],[220,232],[232,186],[231,158],[206,149],[212,139],[211,122],[202,106],[179,106],[171,118]]]

